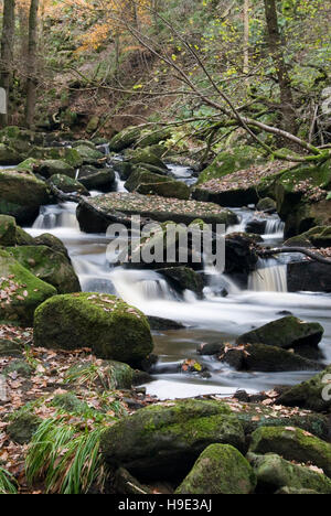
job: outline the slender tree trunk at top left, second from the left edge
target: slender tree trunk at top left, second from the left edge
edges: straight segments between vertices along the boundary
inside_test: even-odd
[[[26,80],[26,105],[25,123],[29,128],[34,123],[35,98],[36,98],[36,51],[38,51],[38,10],[39,0],[31,0],[29,15],[29,44],[28,44],[28,80]]]

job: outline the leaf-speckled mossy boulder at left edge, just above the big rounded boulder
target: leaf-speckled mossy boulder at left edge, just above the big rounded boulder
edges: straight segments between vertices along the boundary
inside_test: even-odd
[[[32,275],[10,254],[0,249],[0,321],[32,325],[36,307],[55,295],[56,289]]]

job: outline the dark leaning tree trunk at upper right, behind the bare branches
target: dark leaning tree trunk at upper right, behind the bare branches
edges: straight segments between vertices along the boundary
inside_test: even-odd
[[[286,131],[295,133],[296,116],[293,111],[293,98],[291,83],[284,58],[284,41],[281,39],[278,26],[276,0],[264,0],[264,2],[268,29],[268,44],[276,66],[280,89],[282,125]]]

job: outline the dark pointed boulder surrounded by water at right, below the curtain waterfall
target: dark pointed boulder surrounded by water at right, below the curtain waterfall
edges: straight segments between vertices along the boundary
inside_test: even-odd
[[[324,330],[319,323],[306,323],[292,315],[273,321],[241,335],[237,344],[266,344],[284,350],[301,346],[317,347]]]

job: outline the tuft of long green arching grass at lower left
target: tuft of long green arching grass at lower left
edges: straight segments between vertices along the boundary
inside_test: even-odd
[[[99,419],[99,418],[98,418]],[[85,494],[92,486],[102,492],[107,469],[99,442],[107,417],[87,421],[58,415],[44,420],[34,433],[25,459],[28,481],[43,480],[47,493]]]

